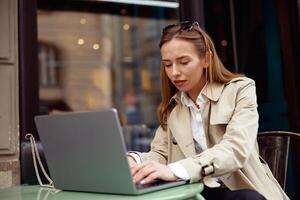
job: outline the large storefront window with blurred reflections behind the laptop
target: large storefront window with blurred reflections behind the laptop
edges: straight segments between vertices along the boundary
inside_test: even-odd
[[[137,14],[39,9],[41,113],[116,107],[123,124],[157,125],[158,43],[177,10],[131,9]]]

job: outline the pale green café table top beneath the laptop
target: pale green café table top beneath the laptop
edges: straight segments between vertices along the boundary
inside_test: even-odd
[[[0,189],[0,200],[205,200],[200,192],[203,184],[187,184],[138,196],[110,195],[87,192],[57,191],[40,186],[21,185]]]

